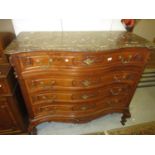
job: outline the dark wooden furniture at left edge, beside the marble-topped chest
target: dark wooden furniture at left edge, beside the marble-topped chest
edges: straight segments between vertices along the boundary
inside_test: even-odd
[[[26,110],[14,71],[3,55],[4,48],[14,35],[0,33],[0,134],[27,132]]]

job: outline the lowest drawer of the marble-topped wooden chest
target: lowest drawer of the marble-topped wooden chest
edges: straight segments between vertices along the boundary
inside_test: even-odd
[[[84,115],[101,110],[127,107],[128,96],[106,97],[102,100],[86,103],[55,103],[55,104],[37,104],[33,106],[34,115]]]

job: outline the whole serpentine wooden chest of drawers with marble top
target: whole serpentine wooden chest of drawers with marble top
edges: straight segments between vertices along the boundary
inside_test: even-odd
[[[45,121],[84,123],[129,104],[154,45],[127,32],[26,32],[6,49],[29,112]]]

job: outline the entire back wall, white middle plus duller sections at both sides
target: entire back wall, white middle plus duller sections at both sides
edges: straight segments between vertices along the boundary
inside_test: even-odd
[[[0,19],[0,31],[15,32],[22,31],[102,31],[102,30],[124,30],[120,19]],[[134,33],[149,41],[155,38],[155,20],[137,20]]]

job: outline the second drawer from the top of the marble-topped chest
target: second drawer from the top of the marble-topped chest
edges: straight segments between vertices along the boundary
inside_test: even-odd
[[[38,78],[39,77],[39,78]],[[25,78],[25,85],[29,92],[55,91],[55,90],[86,90],[103,87],[107,84],[128,83],[134,84],[139,78],[137,70],[123,68],[95,72],[94,75],[79,76],[51,76],[40,74]]]

